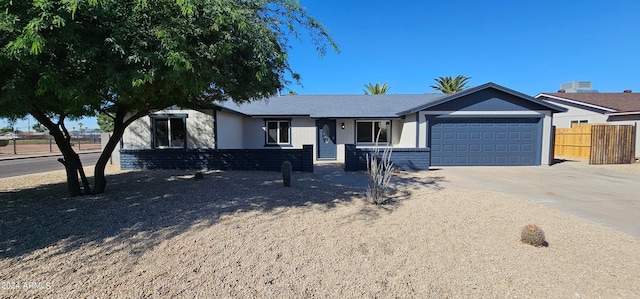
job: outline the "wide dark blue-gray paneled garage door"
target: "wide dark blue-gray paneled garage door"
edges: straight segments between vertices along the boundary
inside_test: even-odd
[[[431,165],[539,165],[539,118],[435,120]]]

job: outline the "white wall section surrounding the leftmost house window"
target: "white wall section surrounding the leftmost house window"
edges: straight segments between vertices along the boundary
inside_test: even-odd
[[[195,111],[189,109],[160,110],[152,114],[187,114],[187,148],[213,148],[215,136],[213,134],[213,111]],[[151,148],[151,118],[144,116],[127,127],[122,143],[124,149]]]

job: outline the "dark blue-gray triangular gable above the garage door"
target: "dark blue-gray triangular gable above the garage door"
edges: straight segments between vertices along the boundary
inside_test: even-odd
[[[423,110],[442,111],[492,111],[492,110],[551,110],[565,112],[567,109],[538,100],[493,82],[465,89],[442,99],[426,103],[402,114]]]

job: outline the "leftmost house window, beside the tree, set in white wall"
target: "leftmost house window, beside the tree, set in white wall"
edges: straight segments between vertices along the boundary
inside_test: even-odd
[[[155,148],[186,147],[186,116],[152,116],[151,119]]]

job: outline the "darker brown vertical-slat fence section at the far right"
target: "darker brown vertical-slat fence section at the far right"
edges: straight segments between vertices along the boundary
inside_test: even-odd
[[[635,162],[635,140],[635,126],[592,126],[589,164],[630,164]]]

